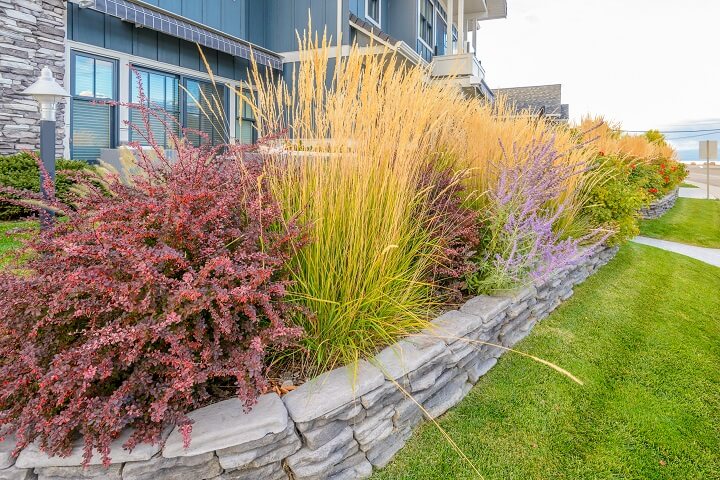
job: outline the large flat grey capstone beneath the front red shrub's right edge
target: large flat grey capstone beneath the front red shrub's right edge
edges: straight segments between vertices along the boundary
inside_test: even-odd
[[[183,448],[179,428],[165,442],[163,457],[189,457],[254,442],[266,435],[285,431],[288,414],[276,393],[261,395],[249,412],[243,402],[232,398],[188,414],[193,423],[190,446]]]

